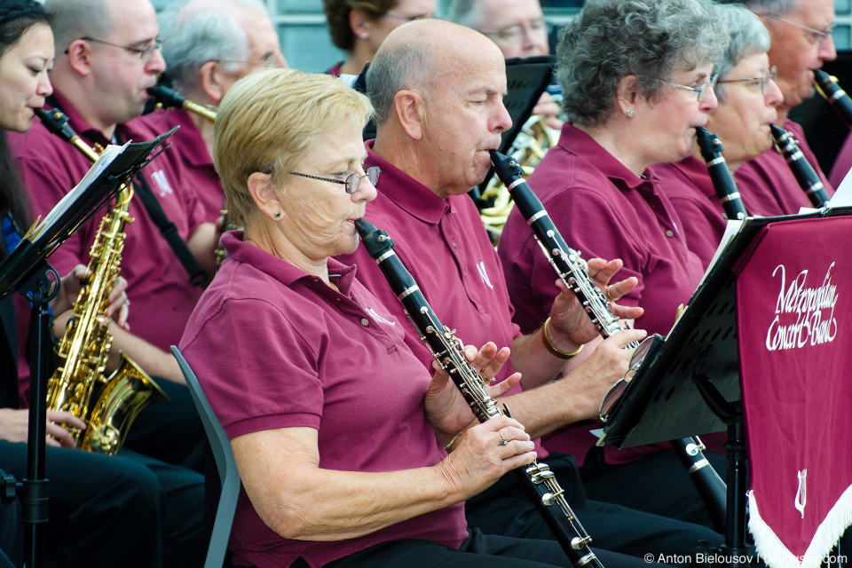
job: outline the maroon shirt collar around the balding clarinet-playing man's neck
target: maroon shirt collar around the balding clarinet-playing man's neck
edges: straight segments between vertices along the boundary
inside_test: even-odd
[[[367,165],[382,169],[379,183],[375,189],[397,204],[406,213],[417,217],[430,225],[437,225],[450,209],[450,204],[432,193],[429,187],[422,185],[414,177],[373,152],[375,140],[367,140]],[[367,203],[367,211],[370,205]]]

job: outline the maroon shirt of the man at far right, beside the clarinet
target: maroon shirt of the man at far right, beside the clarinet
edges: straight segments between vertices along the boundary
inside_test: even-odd
[[[801,153],[814,170],[817,170],[825,191],[833,195],[833,187],[819,169],[817,158],[810,151],[801,126],[787,119],[782,128],[793,133],[793,137],[799,141]],[[784,156],[774,146],[756,158],[744,162],[734,174],[734,179],[749,215],[795,215],[801,207],[813,207],[808,194],[801,188],[790,166],[785,162]]]

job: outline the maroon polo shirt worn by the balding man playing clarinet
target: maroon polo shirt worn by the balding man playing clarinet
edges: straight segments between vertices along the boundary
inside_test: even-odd
[[[446,327],[458,331],[466,345],[477,348],[491,341],[511,347],[520,335],[512,323],[512,305],[502,278],[497,253],[485,233],[476,205],[467,195],[442,200],[428,187],[373,152],[367,142],[365,167],[379,166],[378,196],[367,204],[365,218],[388,232],[394,251],[414,276],[426,301]],[[434,358],[402,304],[364,247],[339,256],[344,264],[358,264],[358,278],[403,323],[406,343],[428,368]],[[515,372],[510,361],[497,375],[502,380]],[[509,394],[520,392],[519,384]],[[545,454],[538,446],[539,456]]]

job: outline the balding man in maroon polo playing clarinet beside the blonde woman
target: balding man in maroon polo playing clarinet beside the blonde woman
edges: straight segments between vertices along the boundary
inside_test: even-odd
[[[439,81],[433,79],[434,69],[440,70]],[[627,370],[630,351],[622,347],[644,333],[627,329],[613,335],[600,344],[604,351],[596,349],[564,376],[566,359],[598,336],[596,329],[588,327],[590,320],[580,303],[563,289],[547,326],[528,335],[519,332],[512,322],[500,262],[466,194],[485,177],[488,150],[500,144],[501,131],[511,124],[502,103],[507,80],[501,52],[468,28],[440,20],[411,22],[391,32],[377,51],[367,71],[367,89],[378,130],[375,141],[367,142],[365,167],[380,167],[382,176],[365,218],[390,234],[396,254],[414,274],[423,295],[438,317],[458,330],[461,340],[477,343],[487,337],[500,347],[511,346],[498,379],[514,371],[522,378],[501,397],[501,404],[509,406],[531,438],[596,416],[607,385]],[[341,260],[358,264],[359,281],[399,319],[406,345],[430,367],[432,355],[407,323],[401,304],[367,252],[358,248]],[[601,284],[621,266],[620,261],[606,263],[600,258],[588,265]],[[627,294],[635,283],[630,279],[612,284],[611,297]],[[620,317],[638,317],[642,312],[611,305]],[[586,500],[573,457],[548,455],[539,440],[533,441],[577,508],[593,546],[656,559],[663,552],[686,554],[698,540],[717,544],[722,540],[698,525]],[[457,442],[447,445],[450,452]],[[506,476],[470,498],[465,516],[470,527],[483,533],[553,538],[533,509],[516,479]]]

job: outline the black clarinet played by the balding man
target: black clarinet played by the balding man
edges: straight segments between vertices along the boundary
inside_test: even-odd
[[[550,264],[556,269],[559,278],[580,300],[580,304],[586,309],[589,318],[595,323],[601,335],[606,338],[622,331],[619,319],[610,312],[606,297],[588,275],[586,261],[580,257],[578,251],[569,248],[565,243],[562,234],[556,229],[556,225],[548,215],[548,211],[544,209],[540,199],[533,193],[530,185],[526,183],[522,175],[523,170],[517,164],[517,161],[492,150],[491,162],[494,165],[494,173],[500,178],[502,184],[509,189],[509,194],[515,201],[517,210],[533,229],[535,239],[539,241],[539,245],[548,256]],[[626,347],[638,347],[638,343],[631,342]],[[635,367],[632,368],[635,371]],[[615,386],[613,385],[613,388]],[[601,420],[605,422],[604,415],[601,416]],[[727,488],[722,477],[719,477],[719,474],[710,466],[710,462],[701,452],[706,447],[700,443],[700,440],[696,444],[693,438],[681,438],[674,440],[671,444],[675,454],[687,465],[690,479],[698,489],[698,493],[701,494],[701,499],[705,502],[713,501],[713,506],[708,506],[708,510],[713,517],[714,526],[721,529],[725,525]],[[688,446],[690,446],[690,450],[697,451],[687,452]]]

